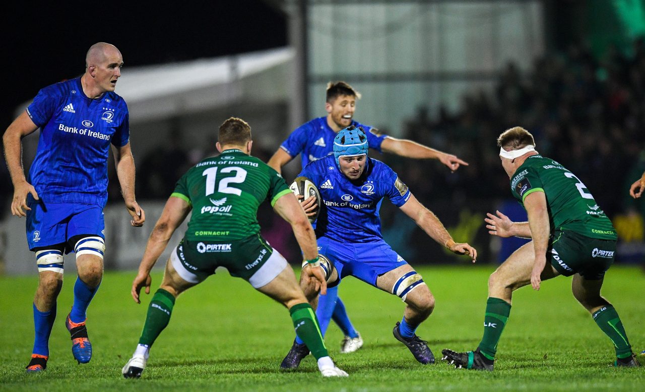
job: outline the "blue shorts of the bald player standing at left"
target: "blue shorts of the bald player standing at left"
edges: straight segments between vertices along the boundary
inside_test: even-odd
[[[79,234],[105,239],[103,208],[95,204],[45,203],[31,201],[27,211],[27,243],[34,248],[66,243]],[[65,254],[70,253],[66,245]]]

